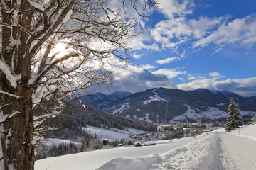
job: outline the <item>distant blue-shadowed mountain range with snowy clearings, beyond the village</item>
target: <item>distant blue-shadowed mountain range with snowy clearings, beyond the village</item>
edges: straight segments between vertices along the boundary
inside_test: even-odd
[[[242,118],[256,115],[256,96],[243,97],[229,91],[154,88],[134,94],[115,91],[78,97],[87,106],[151,123],[225,123],[230,98],[238,103]]]

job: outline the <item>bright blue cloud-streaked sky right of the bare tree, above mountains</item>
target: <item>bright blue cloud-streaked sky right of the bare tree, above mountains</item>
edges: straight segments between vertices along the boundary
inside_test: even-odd
[[[132,64],[112,90],[163,86],[256,96],[256,1],[161,0],[131,41]]]

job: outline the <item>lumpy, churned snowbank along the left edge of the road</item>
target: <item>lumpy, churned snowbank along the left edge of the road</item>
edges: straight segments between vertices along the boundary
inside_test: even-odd
[[[215,134],[204,135],[189,142],[183,147],[172,149],[164,154],[149,154],[146,157],[117,158],[104,164],[97,170],[148,170],[148,169],[191,169],[198,167],[198,162],[203,162],[208,156],[208,149],[213,141],[215,142]],[[171,145],[171,143],[169,143]],[[195,147],[196,146],[196,147]],[[203,166],[203,165],[202,165]]]

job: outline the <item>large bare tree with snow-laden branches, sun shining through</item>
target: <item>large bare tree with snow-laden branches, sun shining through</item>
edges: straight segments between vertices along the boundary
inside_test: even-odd
[[[33,169],[36,137],[58,108],[36,115],[43,100],[111,81],[111,57],[129,50],[136,19],[125,10],[154,0],[1,0],[0,131],[4,169]]]

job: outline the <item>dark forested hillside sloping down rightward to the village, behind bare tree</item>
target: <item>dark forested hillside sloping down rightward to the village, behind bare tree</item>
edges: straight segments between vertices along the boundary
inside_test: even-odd
[[[53,101],[45,103],[45,108],[48,111],[53,106]],[[82,137],[82,128],[87,127],[87,125],[103,129],[115,128],[117,130],[126,130],[127,128],[134,128],[137,130],[156,131],[156,125],[152,123],[120,115],[112,115],[91,106],[82,106],[63,101],[61,110],[63,112],[60,115],[46,122],[47,126],[56,127],[58,130],[47,132],[45,136],[60,139],[77,139]],[[40,110],[39,112],[43,111]]]

